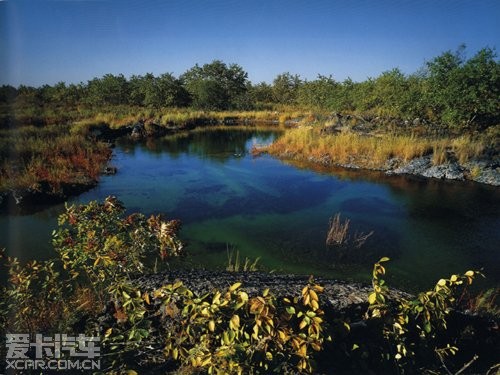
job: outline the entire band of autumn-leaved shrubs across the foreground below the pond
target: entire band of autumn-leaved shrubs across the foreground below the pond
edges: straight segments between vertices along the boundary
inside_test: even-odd
[[[147,254],[169,260],[182,253],[179,228],[175,220],[125,215],[112,197],[67,206],[53,234],[57,259],[21,265],[3,258],[9,280],[1,327],[99,336],[101,370],[115,372],[432,374],[495,366],[495,358],[482,357],[495,346],[488,324],[457,323],[468,319],[456,309],[478,271],[441,279],[416,297],[394,297],[382,258],[365,303],[342,313],[313,279],[298,295],[250,292],[242,282],[206,294],[181,281],[141,287],[137,277],[152,270]],[[477,312],[493,311],[493,297],[471,301]],[[470,347],[470,335],[489,344]],[[467,363],[475,354],[480,360]]]

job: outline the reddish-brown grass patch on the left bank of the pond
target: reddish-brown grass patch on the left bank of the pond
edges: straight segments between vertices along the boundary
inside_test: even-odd
[[[67,125],[24,126],[0,130],[0,190],[58,192],[62,184],[97,180],[111,150],[103,143],[72,133]],[[47,187],[45,187],[47,189]]]

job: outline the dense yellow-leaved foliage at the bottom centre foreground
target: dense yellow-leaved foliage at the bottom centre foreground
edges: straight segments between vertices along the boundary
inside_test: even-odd
[[[311,372],[326,340],[322,290],[311,281],[300,297],[279,300],[268,289],[250,298],[241,283],[204,296],[164,286],[153,293],[168,319],[164,353],[209,374]]]

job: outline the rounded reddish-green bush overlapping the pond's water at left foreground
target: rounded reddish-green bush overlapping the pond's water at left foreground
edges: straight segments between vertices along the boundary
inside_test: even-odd
[[[105,288],[118,277],[144,272],[147,255],[163,260],[180,254],[178,221],[138,213],[124,217],[124,212],[120,201],[108,197],[102,204],[67,206],[59,216],[53,245],[72,279],[84,275],[91,285]]]

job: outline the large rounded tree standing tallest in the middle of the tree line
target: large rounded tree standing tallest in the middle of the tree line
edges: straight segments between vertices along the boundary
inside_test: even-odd
[[[247,92],[248,74],[239,65],[227,66],[220,60],[202,67],[195,65],[180,78],[192,97],[193,106],[200,109],[236,108],[239,98]]]

